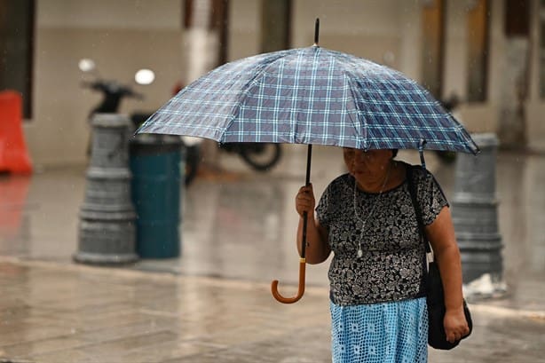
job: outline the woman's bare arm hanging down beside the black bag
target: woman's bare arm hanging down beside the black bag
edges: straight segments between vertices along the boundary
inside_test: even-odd
[[[425,227],[445,289],[446,340],[454,343],[470,333],[463,313],[462,262],[454,236],[450,209],[444,207],[431,225]]]

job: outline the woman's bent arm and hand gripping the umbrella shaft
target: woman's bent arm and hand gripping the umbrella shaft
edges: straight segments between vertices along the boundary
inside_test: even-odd
[[[297,227],[297,249],[299,255],[302,251],[304,212],[307,214],[306,225],[306,249],[305,258],[309,264],[320,264],[328,259],[331,249],[328,244],[328,231],[314,219],[315,207],[312,185],[303,186],[296,195],[296,210],[299,214],[299,225]]]

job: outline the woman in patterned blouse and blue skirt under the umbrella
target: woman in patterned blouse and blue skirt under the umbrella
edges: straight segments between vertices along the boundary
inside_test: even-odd
[[[338,362],[426,362],[428,317],[423,276],[425,246],[407,185],[410,165],[397,150],[344,148],[349,173],[320,198],[314,217],[312,185],[296,195],[301,251],[307,212],[306,262],[329,266],[332,355]],[[462,267],[448,202],[427,170],[415,168],[422,210],[446,297],[446,337],[469,333],[462,307]]]

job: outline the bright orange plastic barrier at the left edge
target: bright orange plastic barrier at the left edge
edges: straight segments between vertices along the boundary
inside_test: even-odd
[[[19,92],[0,92],[0,171],[28,174],[28,157],[22,123],[22,98]]]

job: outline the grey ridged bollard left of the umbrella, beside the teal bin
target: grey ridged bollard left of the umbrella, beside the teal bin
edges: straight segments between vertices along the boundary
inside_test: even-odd
[[[130,120],[95,114],[85,199],[80,209],[76,262],[125,264],[136,261],[136,213],[130,200]]]

